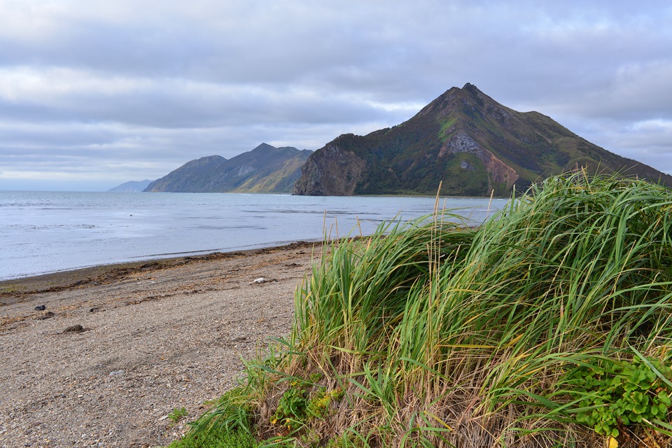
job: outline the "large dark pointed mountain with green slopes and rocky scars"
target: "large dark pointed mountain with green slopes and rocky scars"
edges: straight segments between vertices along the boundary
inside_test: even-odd
[[[587,167],[672,186],[672,176],[605,151],[538,112],[509,109],[467,83],[413,118],[364,137],[344,134],[315,151],[295,195],[508,196],[515,186]]]

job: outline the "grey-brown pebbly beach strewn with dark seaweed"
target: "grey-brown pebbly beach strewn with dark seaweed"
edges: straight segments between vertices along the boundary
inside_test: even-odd
[[[288,335],[294,291],[320,250],[300,242],[0,282],[0,447],[169,444],[235,384],[241,357]]]

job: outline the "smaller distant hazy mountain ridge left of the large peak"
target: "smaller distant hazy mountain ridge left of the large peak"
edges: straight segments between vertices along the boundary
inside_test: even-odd
[[[234,158],[192,160],[153,181],[145,191],[173,193],[290,193],[312,151],[260,144]]]

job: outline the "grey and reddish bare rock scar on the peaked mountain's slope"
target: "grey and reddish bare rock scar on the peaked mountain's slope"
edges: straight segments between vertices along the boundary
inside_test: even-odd
[[[518,174],[512,167],[509,167],[496,158],[493,153],[480,146],[477,141],[464,131],[456,132],[452,137],[443,142],[439,150],[438,159],[440,160],[448,154],[458,153],[473,154],[478,160],[483,162],[488,173],[489,190],[496,190],[500,186],[505,186],[508,190],[518,180]],[[467,170],[473,169],[466,161],[461,163],[461,168]]]

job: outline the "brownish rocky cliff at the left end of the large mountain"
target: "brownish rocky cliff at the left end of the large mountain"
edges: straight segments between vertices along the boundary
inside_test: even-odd
[[[365,162],[352,151],[328,144],[313,153],[294,184],[294,195],[350,196],[362,178]]]

